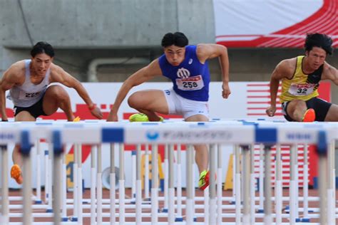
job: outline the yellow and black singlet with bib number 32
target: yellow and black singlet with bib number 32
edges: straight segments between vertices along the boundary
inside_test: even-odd
[[[282,79],[281,103],[295,99],[307,101],[319,95],[318,87],[319,81],[322,79],[324,64],[313,73],[305,74],[302,70],[304,57],[305,56],[297,56],[297,65],[292,78]]]

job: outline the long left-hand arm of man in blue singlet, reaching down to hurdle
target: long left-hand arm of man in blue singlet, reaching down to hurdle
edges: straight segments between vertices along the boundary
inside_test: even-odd
[[[121,103],[126,98],[126,95],[129,93],[130,89],[145,83],[145,81],[154,78],[155,76],[162,75],[160,70],[160,64],[158,59],[155,59],[148,66],[141,68],[140,70],[130,75],[125,82],[123,82],[120,90],[118,90],[118,95],[116,96],[111,112],[108,115],[107,121],[118,121],[118,109],[121,106]]]

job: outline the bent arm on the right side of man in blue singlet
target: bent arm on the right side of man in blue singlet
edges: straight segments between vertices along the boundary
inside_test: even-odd
[[[222,71],[222,97],[229,97],[231,91],[229,87],[229,57],[227,56],[227,48],[222,45],[209,43],[199,44],[196,50],[198,59],[201,63],[205,63],[210,58],[219,58],[220,68]]]

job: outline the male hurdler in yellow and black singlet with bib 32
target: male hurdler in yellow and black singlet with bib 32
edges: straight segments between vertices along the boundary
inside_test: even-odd
[[[270,80],[270,107],[267,115],[276,112],[277,90],[282,80],[280,102],[285,119],[297,122],[338,121],[338,105],[317,98],[320,80],[338,85],[338,70],[325,61],[332,55],[332,39],[322,33],[311,33],[305,39],[305,56],[281,61]]]

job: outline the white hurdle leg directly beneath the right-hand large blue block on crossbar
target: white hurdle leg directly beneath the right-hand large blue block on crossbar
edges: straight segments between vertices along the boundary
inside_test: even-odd
[[[265,182],[264,182],[264,223],[272,224],[272,202],[271,202],[271,145],[265,145]]]

